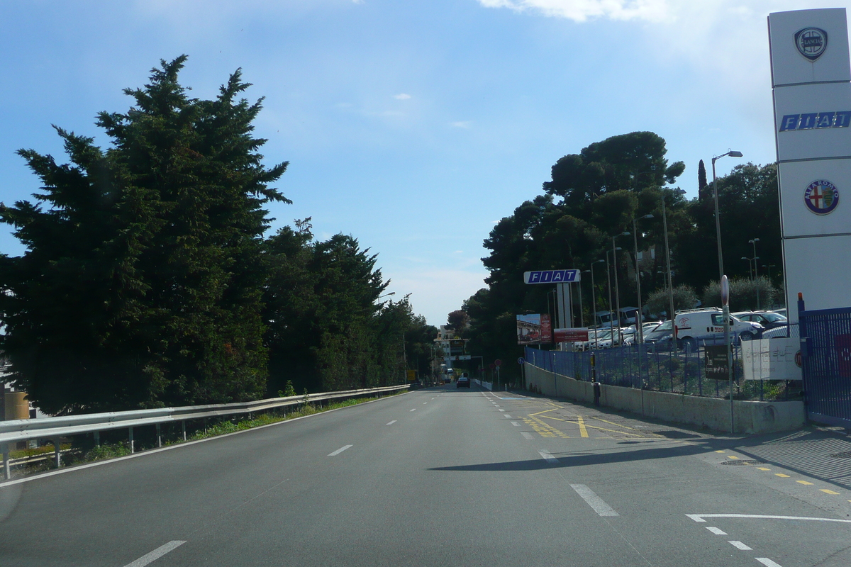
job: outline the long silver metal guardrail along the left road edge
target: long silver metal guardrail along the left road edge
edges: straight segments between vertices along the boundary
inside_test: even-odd
[[[340,392],[324,392],[322,394],[306,394],[286,398],[269,398],[232,404],[186,405],[183,407],[167,407],[154,410],[106,411],[89,413],[78,416],[42,417],[39,419],[14,419],[0,422],[0,451],[3,451],[3,475],[9,479],[9,443],[26,441],[28,439],[58,439],[69,435],[98,434],[100,431],[111,429],[129,429],[130,452],[134,452],[133,428],[146,425],[159,426],[162,423],[183,422],[184,439],[186,439],[186,421],[204,417],[235,416],[255,411],[272,410],[279,407],[300,405],[315,401],[341,400],[358,398],[369,394],[383,394],[408,389],[408,384],[385,386],[382,388],[363,388],[343,390]],[[158,445],[162,445],[158,442]],[[59,443],[56,443],[59,446]],[[60,454],[55,455],[57,466],[60,465]]]

